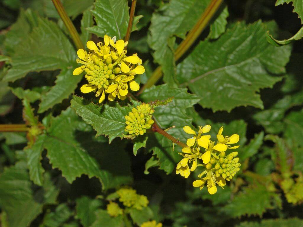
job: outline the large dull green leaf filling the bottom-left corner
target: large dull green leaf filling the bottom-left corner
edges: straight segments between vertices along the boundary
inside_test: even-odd
[[[10,227],[26,227],[42,212],[45,204],[54,204],[58,190],[49,175],[43,188],[33,191],[26,163],[5,169],[0,176],[0,205],[7,213]]]

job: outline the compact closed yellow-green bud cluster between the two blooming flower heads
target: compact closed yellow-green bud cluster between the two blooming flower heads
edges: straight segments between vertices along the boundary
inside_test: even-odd
[[[152,120],[152,114],[155,112],[151,108],[150,104],[142,103],[141,105],[134,107],[132,112],[129,112],[125,116],[126,124],[125,132],[128,132],[128,136],[125,136],[130,139],[134,139],[138,135],[143,135],[146,133],[147,129],[151,128],[151,125],[154,123]]]

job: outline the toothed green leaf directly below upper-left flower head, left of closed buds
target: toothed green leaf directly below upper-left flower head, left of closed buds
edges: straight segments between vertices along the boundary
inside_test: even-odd
[[[128,115],[132,106],[121,107],[118,102],[115,102],[100,107],[75,95],[71,104],[76,113],[97,131],[96,137],[99,135],[108,136],[109,143],[116,137],[123,138],[126,126],[124,116]]]

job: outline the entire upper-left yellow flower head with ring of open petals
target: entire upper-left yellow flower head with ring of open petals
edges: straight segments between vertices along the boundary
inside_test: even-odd
[[[137,54],[126,56],[124,50],[127,42],[122,39],[115,41],[108,35],[104,36],[104,44],[88,41],[86,46],[89,49],[87,53],[83,49],[77,51],[77,63],[83,64],[76,68],[74,75],[79,75],[85,71],[85,78],[88,84],[81,87],[83,93],[96,92],[96,97],[100,96],[99,103],[105,100],[105,94],[108,94],[108,100],[115,100],[116,96],[124,100],[128,94],[128,87],[131,90],[139,90],[139,84],[134,81],[136,74],[143,74],[144,67],[142,60]]]

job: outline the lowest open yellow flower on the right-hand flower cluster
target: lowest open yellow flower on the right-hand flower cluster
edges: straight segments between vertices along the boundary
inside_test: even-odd
[[[199,175],[201,178],[206,173],[206,177],[195,180],[192,185],[194,187],[200,187],[200,190],[203,189],[205,183],[207,183],[207,189],[209,194],[213,195],[217,192],[216,184],[223,188],[223,186],[226,185],[225,179],[223,177],[216,177],[215,174],[212,172],[212,170],[205,170],[203,173]]]

